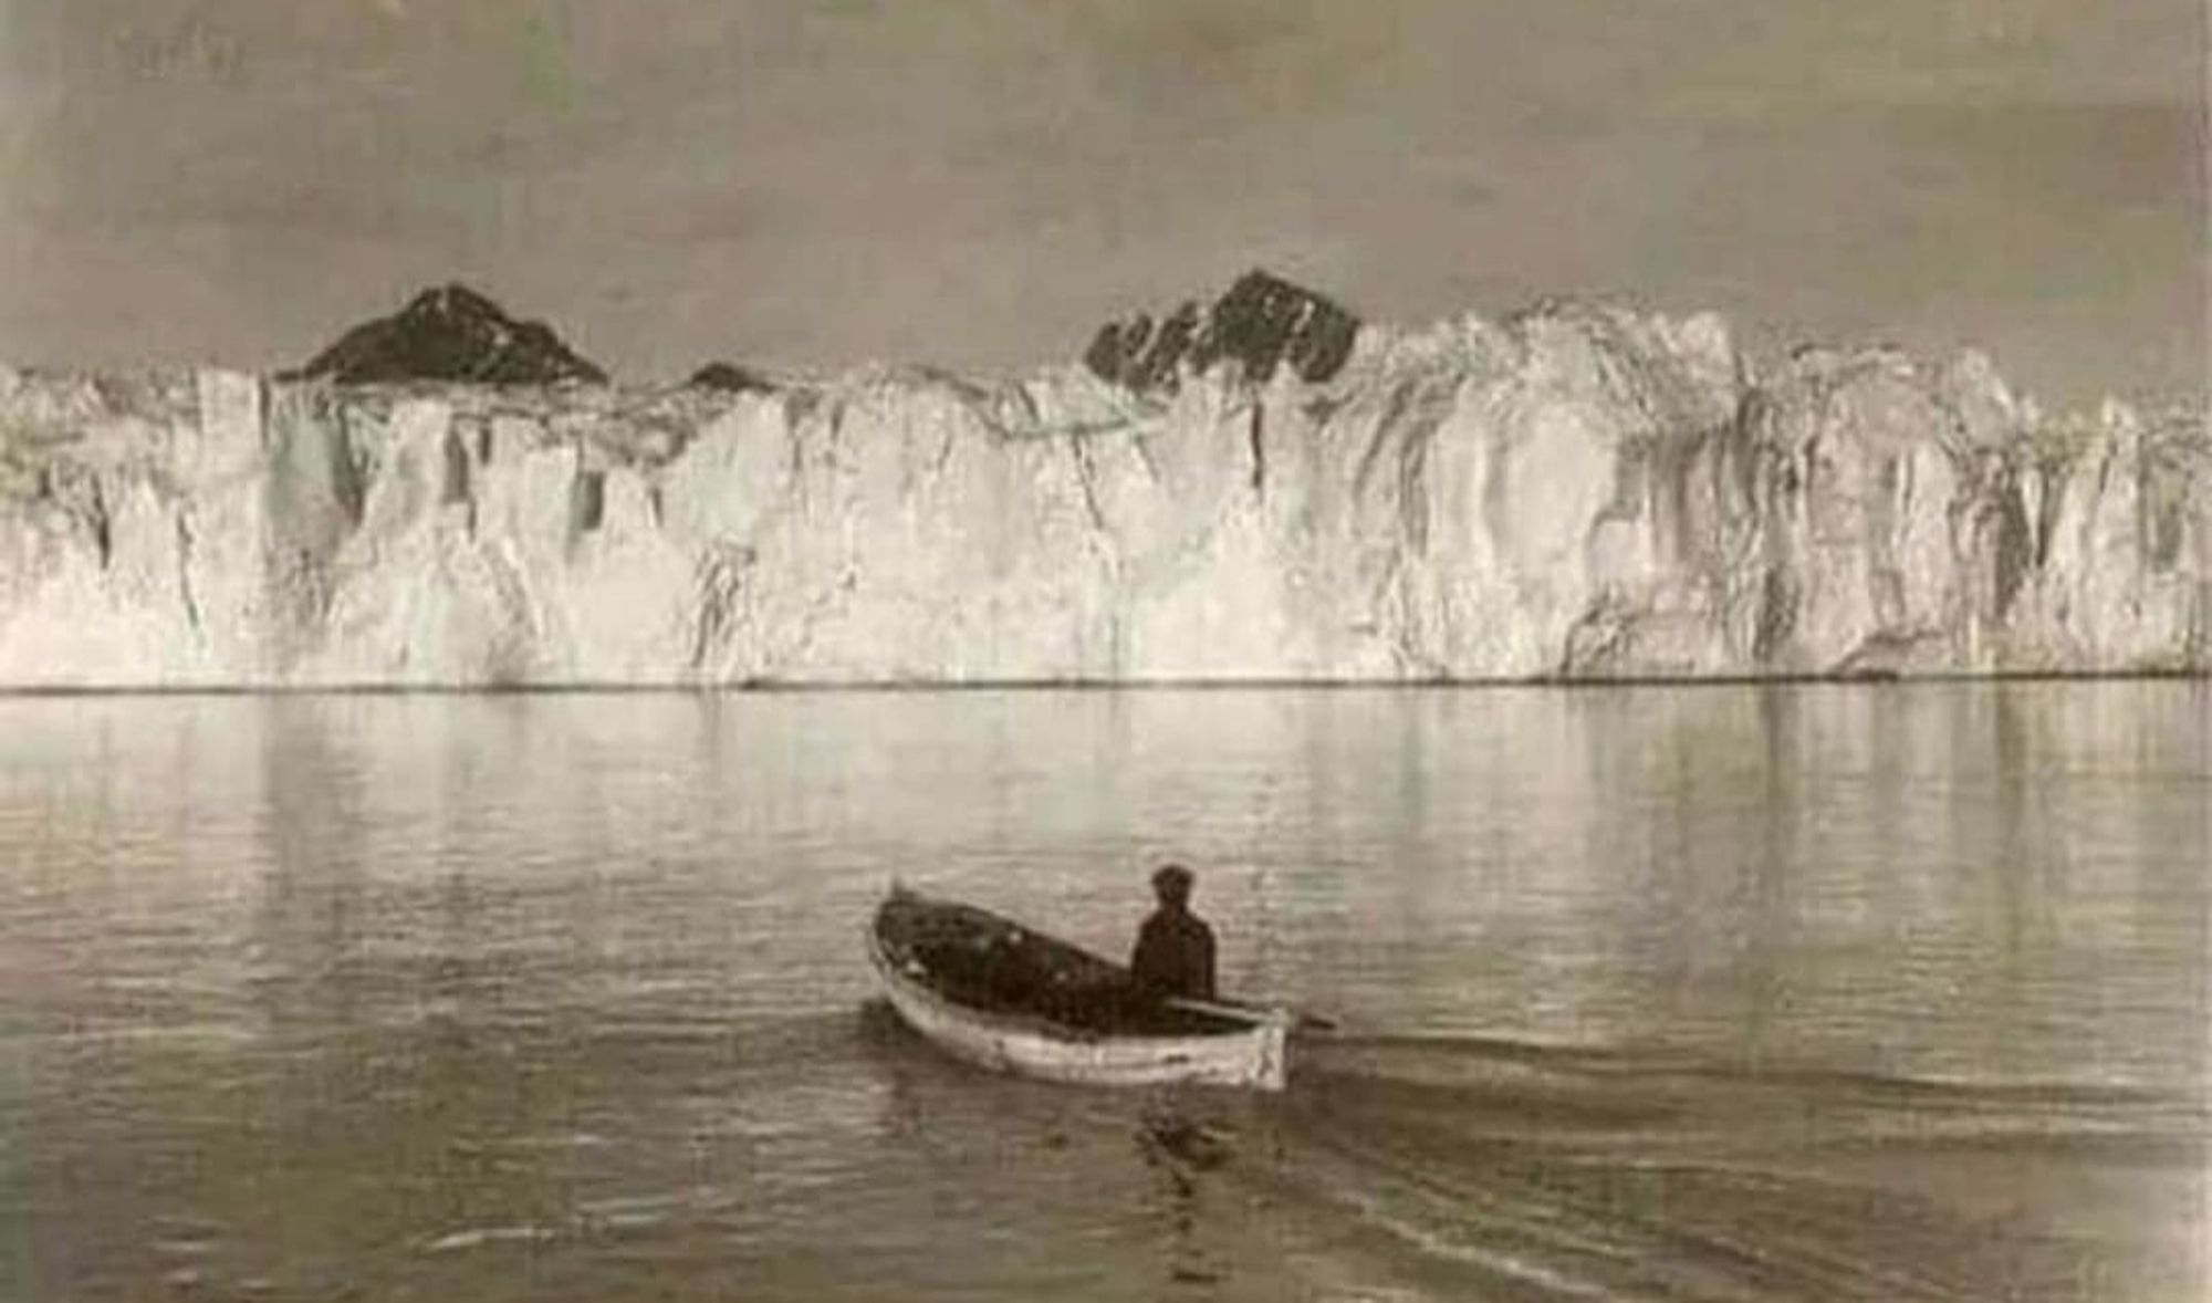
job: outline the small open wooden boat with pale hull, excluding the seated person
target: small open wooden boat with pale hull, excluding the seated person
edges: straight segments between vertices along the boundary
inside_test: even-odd
[[[867,953],[907,1026],[971,1064],[1088,1086],[1283,1088],[1285,1011],[1144,998],[1121,965],[989,909],[891,887]]]

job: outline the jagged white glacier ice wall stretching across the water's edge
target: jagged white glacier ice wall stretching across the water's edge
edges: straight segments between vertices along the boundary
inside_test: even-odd
[[[1168,321],[1004,383],[613,387],[467,323],[458,374],[562,383],[0,369],[0,684],[2212,670],[2201,407],[1590,305]]]

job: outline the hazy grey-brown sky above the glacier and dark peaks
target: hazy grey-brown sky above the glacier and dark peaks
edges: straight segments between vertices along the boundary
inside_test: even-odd
[[[2203,392],[2201,0],[0,0],[0,358],[467,281],[624,378],[1018,372],[1267,265]]]

